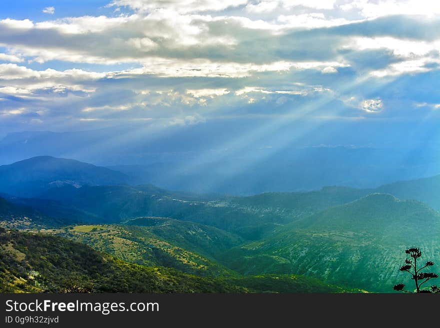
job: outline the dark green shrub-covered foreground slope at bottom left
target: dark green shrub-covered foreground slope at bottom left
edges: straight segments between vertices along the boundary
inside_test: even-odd
[[[144,267],[56,236],[0,230],[0,292],[62,292],[69,282],[95,292],[245,292],[215,279]]]

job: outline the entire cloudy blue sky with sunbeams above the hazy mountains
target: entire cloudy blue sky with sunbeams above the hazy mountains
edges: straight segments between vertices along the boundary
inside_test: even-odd
[[[0,136],[258,122],[232,146],[437,141],[439,51],[437,1],[3,0]]]

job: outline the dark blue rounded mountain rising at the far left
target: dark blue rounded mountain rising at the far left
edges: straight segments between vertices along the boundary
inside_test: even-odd
[[[51,188],[116,185],[129,180],[118,171],[51,156],[37,156],[0,166],[0,192],[20,197],[37,197]]]

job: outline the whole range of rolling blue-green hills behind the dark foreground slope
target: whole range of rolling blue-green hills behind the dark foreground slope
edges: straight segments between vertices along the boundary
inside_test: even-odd
[[[54,168],[39,172],[35,161],[46,160]],[[79,181],[73,171],[58,169],[65,163],[72,162],[39,157],[8,166],[16,176],[34,171],[24,181],[37,197],[0,189],[0,226],[80,242],[132,265],[221,282],[228,286],[224,291],[288,291],[280,281],[290,291],[309,291],[291,285],[296,277],[314,291],[392,292],[405,278],[398,268],[406,248],[420,247],[425,260],[440,258],[439,176],[374,189],[331,186],[239,197],[116,184],[115,171],[82,163],[87,172],[81,177],[108,172],[114,184],[84,178],[80,186],[51,185],[55,176]],[[44,188],[35,176],[48,177]]]

